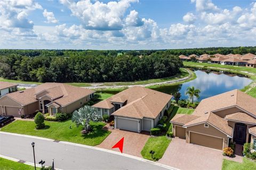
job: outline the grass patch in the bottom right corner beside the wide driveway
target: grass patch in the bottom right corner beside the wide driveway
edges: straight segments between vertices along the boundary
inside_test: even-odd
[[[247,170],[247,169],[248,170],[256,169],[256,163],[246,158],[243,159],[243,163],[237,163],[232,160],[223,159],[222,170]]]

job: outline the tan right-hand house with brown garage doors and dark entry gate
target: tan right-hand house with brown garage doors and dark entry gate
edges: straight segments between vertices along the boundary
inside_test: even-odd
[[[174,136],[187,143],[217,150],[230,142],[256,144],[256,99],[239,90],[228,91],[203,99],[193,114],[177,114],[170,122]]]

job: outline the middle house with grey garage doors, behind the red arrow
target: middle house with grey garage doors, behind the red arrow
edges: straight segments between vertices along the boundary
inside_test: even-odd
[[[98,114],[114,116],[115,128],[150,131],[171,106],[171,95],[135,86],[93,105]]]

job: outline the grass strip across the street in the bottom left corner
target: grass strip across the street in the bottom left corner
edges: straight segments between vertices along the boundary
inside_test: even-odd
[[[1,170],[33,170],[34,166],[14,162],[12,160],[0,158],[0,169]],[[40,168],[36,168],[40,169]]]

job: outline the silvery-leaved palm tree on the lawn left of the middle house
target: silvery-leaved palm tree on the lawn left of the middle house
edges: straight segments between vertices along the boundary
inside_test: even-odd
[[[83,130],[89,132],[91,130],[90,121],[99,121],[100,115],[97,114],[96,109],[91,106],[84,106],[73,112],[71,118],[72,122],[75,122],[77,126],[82,125]]]

